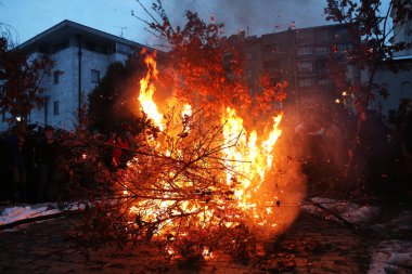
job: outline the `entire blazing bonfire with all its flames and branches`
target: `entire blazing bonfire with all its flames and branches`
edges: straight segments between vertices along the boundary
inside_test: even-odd
[[[189,26],[204,24],[195,14],[186,15],[194,23]],[[154,27],[172,34],[168,23]],[[133,107],[146,126],[134,136],[139,146],[131,152],[133,157],[117,172],[113,203],[98,199],[93,205],[99,211],[94,217],[108,220],[107,225],[91,224],[123,244],[154,244],[168,258],[209,260],[216,250],[247,258],[256,253],[257,243],[293,222],[304,196],[297,161],[286,142],[278,146],[284,114],[270,107],[286,83],[263,87],[260,96],[252,97],[236,76],[240,70],[234,66],[240,63],[231,62],[234,66],[228,73],[224,62],[214,62],[216,56],[222,61],[228,49],[217,39],[217,25],[201,29],[206,45],[169,38],[179,43],[169,53],[172,68],[158,70],[156,52],[141,53],[147,73],[140,79]],[[184,37],[184,30],[172,35]],[[204,51],[198,55],[202,61],[194,64],[188,47]],[[209,56],[202,57],[205,54]],[[172,94],[159,104],[155,94],[165,75]],[[259,113],[255,119],[253,108]]]

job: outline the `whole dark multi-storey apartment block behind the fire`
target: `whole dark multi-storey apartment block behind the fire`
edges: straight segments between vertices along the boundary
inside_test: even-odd
[[[334,83],[331,61],[346,64],[346,56],[358,42],[360,39],[350,32],[348,24],[244,37],[244,67],[250,90],[259,92],[259,77],[265,73],[275,82],[287,81],[286,105],[299,109],[333,105],[345,89]],[[349,79],[359,74],[359,69],[347,65]],[[283,104],[278,102],[275,107],[282,108]]]

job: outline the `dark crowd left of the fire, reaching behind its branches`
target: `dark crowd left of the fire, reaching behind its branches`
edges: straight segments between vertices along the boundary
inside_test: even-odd
[[[1,133],[0,203],[67,199],[74,185],[87,184],[91,180],[82,178],[79,168],[90,165],[98,169],[104,165],[112,171],[125,168],[127,149],[136,147],[129,133],[110,133],[107,136],[94,133],[95,143],[103,149],[93,153],[85,147],[85,152],[74,159],[73,147],[64,144],[67,135],[66,131],[50,126],[14,127]],[[73,160],[77,164],[73,165]]]

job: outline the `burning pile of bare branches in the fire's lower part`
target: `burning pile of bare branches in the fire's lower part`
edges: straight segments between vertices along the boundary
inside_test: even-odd
[[[217,249],[242,259],[253,256],[256,239],[233,197],[242,174],[230,169],[222,153],[242,133],[224,141],[222,125],[210,122],[216,120],[211,116],[205,109],[191,116],[170,109],[163,131],[143,117],[145,127],[134,136],[139,146],[124,151],[129,156],[126,168],[88,169],[93,185],[85,190],[83,223],[74,234],[78,243],[94,248],[154,245],[165,257],[185,262],[207,259]],[[87,134],[77,136],[88,144],[77,147],[89,154],[113,148]],[[76,147],[75,142],[82,143],[67,144]],[[93,165],[82,159],[76,167],[88,166]]]

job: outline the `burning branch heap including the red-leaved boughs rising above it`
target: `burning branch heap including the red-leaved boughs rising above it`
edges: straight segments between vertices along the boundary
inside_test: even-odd
[[[207,259],[216,249],[236,258],[254,256],[256,232],[248,224],[253,217],[234,199],[244,174],[231,168],[223,153],[237,145],[243,132],[224,140],[216,114],[222,106],[236,106],[252,114],[249,122],[259,122],[259,115],[271,110],[274,100],[284,99],[286,83],[266,79],[261,94],[253,97],[240,47],[221,39],[221,24],[206,24],[188,11],[186,25],[173,28],[160,1],[153,4],[153,14],[137,2],[153,23],[139,19],[170,48],[169,63],[156,84],[171,88],[179,102],[202,107],[190,116],[169,109],[162,130],[143,114],[134,131],[139,132],[133,136],[136,144],[128,148],[93,139],[87,126],[77,130],[83,145],[77,145],[78,140],[69,145],[99,157],[120,148],[128,157],[125,167],[116,169],[99,157],[91,164],[75,157],[80,170],[91,167],[85,178],[92,178],[91,185],[83,187],[88,207],[75,238],[88,248],[113,243],[119,247],[154,245],[165,257],[185,262]]]

